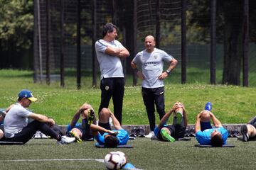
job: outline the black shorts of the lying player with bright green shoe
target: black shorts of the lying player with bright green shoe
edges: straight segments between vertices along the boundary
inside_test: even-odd
[[[184,128],[181,125],[167,125],[167,126],[164,126],[163,128],[169,129],[171,132],[171,137],[174,137],[175,139],[183,138],[185,135],[186,128]],[[161,130],[159,130],[157,137],[159,138],[159,140],[163,140],[160,132],[161,132]]]

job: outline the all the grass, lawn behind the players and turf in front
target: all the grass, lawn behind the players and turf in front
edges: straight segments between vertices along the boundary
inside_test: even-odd
[[[183,85],[175,73],[166,79],[166,111],[175,101],[182,101],[188,123],[194,124],[197,113],[211,101],[213,113],[222,123],[246,123],[255,116],[255,88],[211,86],[206,81],[207,74],[197,71],[190,77],[189,83]],[[59,125],[67,125],[84,102],[91,103],[95,110],[100,105],[100,89],[91,87],[92,79],[88,76],[82,77],[80,90],[76,89],[73,76],[65,77],[65,88],[61,88],[56,81],[50,86],[45,82],[33,84],[33,72],[11,69],[0,70],[0,82],[0,108],[15,103],[21,89],[30,89],[38,98],[30,109],[50,116]],[[141,88],[131,85],[132,77],[127,77],[123,124],[147,125]],[[102,160],[105,154],[117,150],[127,154],[129,162],[138,169],[255,169],[255,142],[229,138],[228,143],[234,148],[198,148],[194,147],[196,143],[193,137],[188,142],[174,143],[137,137],[129,141],[133,149],[97,149],[94,142],[60,146],[55,140],[31,140],[26,145],[0,145],[0,169],[105,169],[95,159]]]

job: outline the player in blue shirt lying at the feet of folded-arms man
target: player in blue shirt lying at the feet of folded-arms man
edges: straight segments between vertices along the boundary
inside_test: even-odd
[[[110,128],[110,118],[114,125],[114,130]],[[117,145],[127,145],[129,135],[126,130],[122,128],[114,113],[109,108],[102,108],[99,114],[99,125],[90,125],[90,128],[95,135],[95,139],[100,145],[106,147],[117,147]]]

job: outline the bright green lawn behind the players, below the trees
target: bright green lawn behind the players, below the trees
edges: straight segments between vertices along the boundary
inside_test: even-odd
[[[198,70],[194,70],[198,72]],[[196,82],[197,77],[206,79],[206,74],[198,73],[191,77],[191,83],[180,84],[178,73],[166,79],[165,105],[166,111],[175,101],[185,103],[188,112],[188,123],[193,124],[196,115],[207,101],[213,103],[213,113],[222,123],[246,123],[255,116],[255,88],[241,86],[209,85],[207,82]],[[199,76],[198,76],[199,75]],[[191,74],[192,76],[192,74]],[[203,78],[204,77],[204,78]],[[97,111],[100,106],[100,89],[92,88],[91,77],[82,77],[82,89],[76,89],[75,77],[65,77],[65,88],[60,82],[53,81],[50,86],[45,83],[33,83],[33,72],[11,69],[0,70],[0,108],[6,108],[16,102],[17,94],[21,89],[30,89],[38,98],[30,107],[35,113],[50,116],[59,125],[70,123],[73,114],[82,103],[91,103]],[[97,81],[99,84],[99,80]],[[140,83],[140,81],[139,81]],[[112,109],[110,102],[110,109]],[[156,113],[156,118],[158,115]],[[156,119],[156,123],[159,119]],[[123,124],[149,124],[141,87],[132,86],[132,77],[127,77],[124,92]]]

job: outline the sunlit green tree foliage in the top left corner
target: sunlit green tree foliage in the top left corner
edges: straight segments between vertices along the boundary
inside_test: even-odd
[[[0,47],[30,48],[33,33],[33,0],[0,0]]]

